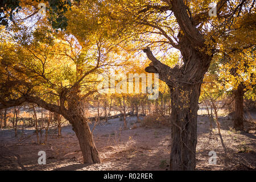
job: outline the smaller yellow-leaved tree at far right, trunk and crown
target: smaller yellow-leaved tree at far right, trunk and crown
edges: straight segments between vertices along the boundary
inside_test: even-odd
[[[255,9],[251,9],[254,10]],[[243,96],[255,86],[255,13],[240,16],[229,30],[229,37],[222,39],[220,49],[220,75],[223,88],[233,90],[235,108],[233,127],[243,130]]]

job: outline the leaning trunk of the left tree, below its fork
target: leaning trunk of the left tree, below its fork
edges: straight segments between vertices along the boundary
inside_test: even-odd
[[[72,115],[72,117],[68,117],[68,120],[71,122],[76,133],[76,137],[79,139],[82,156],[84,157],[84,163],[100,163],[98,151],[95,147],[93,135],[90,132],[86,118],[79,113],[72,112],[72,114],[69,115]]]

